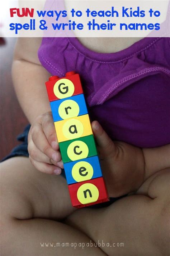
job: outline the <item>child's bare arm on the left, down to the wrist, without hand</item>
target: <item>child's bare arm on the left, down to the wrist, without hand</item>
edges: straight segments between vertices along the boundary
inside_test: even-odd
[[[51,76],[39,62],[37,51],[41,38],[19,38],[12,67],[13,83],[19,103],[32,123],[40,114],[50,111],[44,81]]]

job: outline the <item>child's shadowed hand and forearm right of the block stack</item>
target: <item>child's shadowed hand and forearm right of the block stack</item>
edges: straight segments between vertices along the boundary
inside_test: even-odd
[[[142,149],[113,142],[97,121],[92,128],[110,197],[134,192],[151,175],[170,167],[170,144]]]

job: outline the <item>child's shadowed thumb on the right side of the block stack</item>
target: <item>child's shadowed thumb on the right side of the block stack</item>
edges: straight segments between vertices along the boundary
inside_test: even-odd
[[[96,143],[100,148],[100,151],[103,151],[103,155],[109,156],[110,154],[115,154],[116,148],[112,139],[109,138],[107,133],[103,130],[98,121],[93,121],[91,123],[93,133],[96,139]]]

